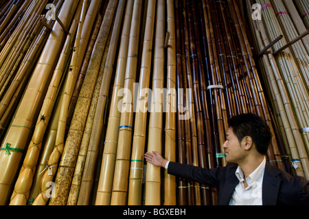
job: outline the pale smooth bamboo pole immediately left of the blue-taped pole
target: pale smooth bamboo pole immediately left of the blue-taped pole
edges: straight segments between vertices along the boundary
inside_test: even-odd
[[[126,60],[128,57],[128,41],[130,36],[130,26],[133,14],[134,0],[128,0],[126,13],[124,16],[124,25],[122,27],[122,36],[119,46],[119,55],[117,60],[117,69],[111,97],[111,109],[108,116],[106,129],[106,138],[104,142],[104,151],[102,157],[102,167],[100,170],[100,179],[96,195],[95,205],[110,205],[111,190],[113,186],[113,175],[115,170],[115,158],[117,152],[118,128],[121,112],[118,105],[122,105],[122,96],[119,95],[124,88],[124,76],[126,73]],[[98,109],[99,110],[99,109]]]

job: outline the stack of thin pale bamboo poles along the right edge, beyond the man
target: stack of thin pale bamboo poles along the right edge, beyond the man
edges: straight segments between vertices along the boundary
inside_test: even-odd
[[[261,33],[264,34],[264,36],[262,36],[264,39],[264,46],[267,42],[265,41],[267,40],[266,38],[269,39],[269,42],[275,40],[275,38],[279,35],[283,35],[284,38],[273,45],[273,49],[277,51],[287,44],[286,38],[292,40],[290,37],[291,34],[295,34],[292,35],[294,38],[298,36],[293,23],[287,17],[288,14],[286,14],[287,12],[283,4],[280,4],[279,1],[258,0],[257,2],[263,5],[263,23],[259,23],[257,26],[260,28]],[[278,18],[275,16],[276,12]],[[283,31],[283,29],[285,31]],[[290,153],[292,157],[291,159],[293,161],[297,161],[297,166],[299,167],[296,168],[297,175],[306,176],[308,178],[308,133],[304,131],[301,132],[301,137],[299,136],[299,129],[308,127],[309,125],[309,90],[308,85],[306,85],[306,78],[308,78],[308,53],[306,52],[306,49],[304,49],[304,44],[302,44],[302,41],[299,40],[295,44],[291,45],[291,49],[287,48],[276,54],[275,60],[277,62],[277,66],[275,68],[279,69],[278,76],[282,77],[282,80],[284,81],[284,84],[280,90],[287,91],[284,96],[282,96],[282,99],[286,99],[284,102],[291,103],[293,107],[293,113],[287,111],[288,116],[293,118],[290,118],[288,123],[285,122],[286,127],[288,127],[289,124],[290,128],[294,130],[293,137],[289,137],[292,139],[289,140],[288,138],[288,145],[290,146]],[[279,79],[279,77],[277,77],[277,79]],[[296,120],[296,124],[293,121],[294,118]],[[293,138],[295,138],[295,143],[293,142]]]

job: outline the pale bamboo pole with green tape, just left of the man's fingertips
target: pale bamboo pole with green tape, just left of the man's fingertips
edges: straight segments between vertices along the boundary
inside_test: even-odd
[[[148,92],[150,81],[152,41],[155,24],[156,1],[149,0],[147,5],[146,29],[141,55],[141,71],[137,91],[137,112],[133,133],[133,148],[128,183],[128,205],[141,205],[141,184],[144,172],[144,153],[148,113]],[[157,192],[156,194],[159,194]]]

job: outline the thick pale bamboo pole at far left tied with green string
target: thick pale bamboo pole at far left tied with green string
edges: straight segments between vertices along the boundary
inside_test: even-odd
[[[77,5],[76,1],[65,2],[59,14],[62,23],[65,25],[70,23],[72,16],[69,12],[71,12],[72,8],[76,8]],[[64,36],[62,27],[56,23],[53,34],[49,35],[49,40],[47,40],[41,58],[34,73],[32,73],[27,90],[12,120],[12,125],[3,140],[0,151],[0,170],[2,172],[0,176],[0,205],[3,205],[8,198],[12,180],[16,175],[19,162],[21,162],[21,152],[25,149],[27,138],[29,138],[32,129],[35,109],[42,101],[42,92],[45,89],[47,79],[50,77],[53,63],[56,60]],[[14,151],[14,149],[19,149],[21,152]]]

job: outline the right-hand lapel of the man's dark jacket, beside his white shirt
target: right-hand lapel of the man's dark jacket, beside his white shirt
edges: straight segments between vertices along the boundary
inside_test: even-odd
[[[263,185],[262,205],[276,205],[281,179],[277,178],[280,171],[266,162]]]

